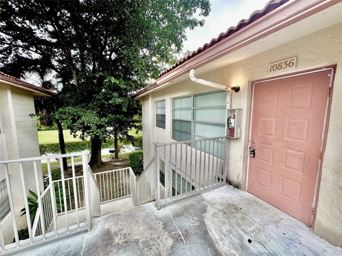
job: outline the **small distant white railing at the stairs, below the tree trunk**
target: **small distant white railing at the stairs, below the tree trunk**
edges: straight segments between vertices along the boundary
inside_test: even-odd
[[[130,196],[130,167],[94,174],[100,188],[100,202],[125,198]]]

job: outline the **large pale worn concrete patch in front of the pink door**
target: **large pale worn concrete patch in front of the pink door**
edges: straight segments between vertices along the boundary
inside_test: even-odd
[[[207,230],[222,255],[342,255],[304,223],[250,193],[223,186],[202,197]]]

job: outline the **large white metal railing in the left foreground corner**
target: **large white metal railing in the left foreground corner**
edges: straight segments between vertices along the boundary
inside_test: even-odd
[[[63,158],[71,161],[67,171],[63,170]],[[90,218],[99,214],[100,196],[93,174],[88,167],[88,152],[53,156],[38,156],[26,159],[0,161],[4,166],[6,189],[9,197],[11,230],[5,230],[0,222],[0,254],[35,244],[41,240],[56,238],[79,230],[90,230]],[[75,161],[81,158],[82,169],[76,175]],[[51,166],[58,159],[59,166]],[[46,162],[48,186],[43,189],[41,164]],[[54,174],[54,175],[53,175]],[[53,176],[60,176],[55,178]],[[15,190],[13,189],[15,186]],[[18,190],[19,188],[19,190]],[[38,208],[31,222],[28,190],[35,191]],[[15,191],[15,192],[14,192]],[[20,192],[21,191],[21,192]],[[43,191],[41,193],[41,191]],[[21,195],[20,195],[21,193]],[[16,201],[14,201],[16,198]],[[30,201],[32,203],[32,201]],[[19,222],[20,210],[24,205],[26,225]],[[69,216],[70,215],[70,216]],[[73,218],[69,218],[69,217]],[[76,215],[76,220],[73,220]],[[81,220],[81,215],[85,218]],[[6,217],[8,218],[8,217]],[[27,228],[28,239],[19,240],[18,230]],[[13,237],[9,239],[9,236]]]

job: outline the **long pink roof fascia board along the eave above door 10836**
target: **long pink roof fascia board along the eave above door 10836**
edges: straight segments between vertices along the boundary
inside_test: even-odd
[[[309,17],[313,14],[322,11],[334,4],[338,4],[338,1],[333,0],[311,0],[309,1],[288,1],[284,5],[279,6],[279,8],[271,11],[269,14],[259,18],[257,21],[252,23],[252,26],[246,26],[240,31],[232,34],[227,38],[224,38],[221,42],[208,48],[202,53],[199,53],[194,58],[187,60],[182,65],[179,65],[174,70],[163,75],[161,78],[157,79],[157,87],[142,93],[135,97],[139,99],[150,92],[161,89],[162,85],[167,82],[171,82],[175,78],[179,78],[185,73],[188,73],[191,68],[199,68],[213,60],[217,60],[223,55],[233,52],[239,48],[249,45],[260,38],[269,36],[271,33],[281,30],[286,26],[290,26],[297,21]]]

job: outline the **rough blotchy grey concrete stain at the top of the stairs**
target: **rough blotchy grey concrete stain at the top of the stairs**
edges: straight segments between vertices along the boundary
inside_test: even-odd
[[[99,218],[84,255],[170,255],[172,239],[152,204]]]

